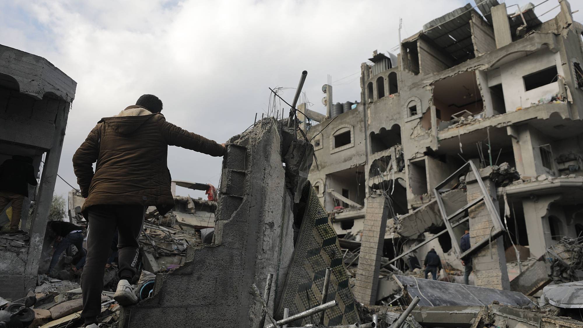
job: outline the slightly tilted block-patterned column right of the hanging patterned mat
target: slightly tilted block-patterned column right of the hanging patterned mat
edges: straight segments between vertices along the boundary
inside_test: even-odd
[[[365,215],[354,296],[365,305],[374,305],[377,301],[378,273],[387,229],[388,207],[385,197],[378,194],[368,196]]]

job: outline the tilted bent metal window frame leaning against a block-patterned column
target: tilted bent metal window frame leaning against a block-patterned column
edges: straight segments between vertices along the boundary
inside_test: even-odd
[[[468,172],[470,172],[470,170],[476,177],[476,181],[480,186],[480,190],[482,191],[482,197],[476,198],[475,200],[469,202],[468,205],[465,205],[464,207],[455,211],[453,214],[448,215],[447,212],[445,211],[445,207],[443,204],[443,200],[441,199],[441,194],[440,194],[439,190],[442,187],[446,186],[449,182],[454,180],[456,177],[458,177],[461,173],[463,173],[463,172],[468,173]],[[492,201],[492,198],[488,194],[488,192],[486,190],[486,186],[484,186],[484,182],[482,181],[482,177],[480,176],[480,172],[477,170],[476,165],[471,160],[466,162],[464,165],[462,165],[461,168],[456,170],[452,175],[447,177],[447,179],[445,179],[443,182],[438,184],[433,189],[433,193],[436,196],[437,206],[440,209],[441,218],[444,221],[445,228],[447,229],[447,231],[449,232],[449,236],[451,237],[452,246],[454,247],[455,253],[458,254],[458,259],[463,259],[464,257],[472,255],[473,253],[482,249],[482,247],[484,247],[484,246],[488,245],[489,243],[493,242],[494,240],[496,240],[496,238],[498,238],[498,236],[500,236],[502,233],[504,233],[506,231],[504,228],[504,225],[502,224],[502,221],[500,219],[500,214],[498,214],[496,207],[494,207],[494,202]],[[492,224],[493,224],[492,231],[490,232],[490,235],[487,238],[480,240],[479,242],[475,243],[475,245],[470,247],[470,249],[466,250],[466,252],[462,253],[462,250],[459,247],[459,241],[454,242],[454,240],[458,240],[458,237],[454,233],[454,229],[453,229],[454,225],[452,225],[451,221],[449,221],[449,220],[455,219],[460,214],[466,214],[467,216],[464,219],[469,219],[468,210],[470,209],[470,207],[473,207],[473,206],[481,203],[482,201],[484,202],[484,205],[486,205],[486,209],[490,214],[490,218],[491,218]],[[459,222],[458,222],[458,224],[459,224]]]

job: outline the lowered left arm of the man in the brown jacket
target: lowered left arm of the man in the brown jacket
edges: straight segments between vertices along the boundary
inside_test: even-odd
[[[77,176],[77,183],[81,191],[81,196],[89,196],[89,185],[93,179],[93,163],[97,162],[99,156],[99,124],[96,125],[83,144],[73,155],[73,171]]]

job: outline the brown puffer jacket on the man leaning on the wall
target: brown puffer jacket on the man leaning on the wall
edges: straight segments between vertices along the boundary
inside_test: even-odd
[[[174,207],[167,167],[168,145],[223,156],[215,141],[168,123],[160,113],[129,106],[102,118],[73,155],[83,197],[83,215],[98,204],[154,205],[160,214]],[[93,163],[97,162],[95,173]]]

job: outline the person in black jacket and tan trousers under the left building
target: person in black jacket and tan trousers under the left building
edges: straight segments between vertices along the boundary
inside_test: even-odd
[[[0,165],[0,213],[12,201],[12,219],[8,233],[26,233],[18,228],[24,197],[29,197],[29,184],[37,185],[33,159],[27,156],[12,156]]]

